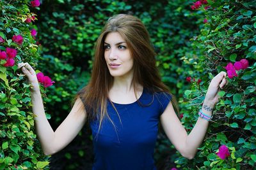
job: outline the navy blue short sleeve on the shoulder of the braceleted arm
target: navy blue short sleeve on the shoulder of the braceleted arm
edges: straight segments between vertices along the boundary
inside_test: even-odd
[[[172,100],[172,95],[167,92],[159,92],[156,94],[156,98],[159,102],[159,114],[162,115],[162,113]]]

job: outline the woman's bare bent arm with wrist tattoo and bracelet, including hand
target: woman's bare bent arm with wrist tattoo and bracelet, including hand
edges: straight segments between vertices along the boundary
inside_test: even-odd
[[[212,110],[216,103],[218,103],[218,92],[227,83],[225,78],[227,73],[221,71],[212,80],[205,95],[204,104],[202,106],[202,112],[205,115],[211,117]],[[172,103],[168,104],[166,110],[160,117],[161,124],[164,132],[173,143],[175,148],[182,154],[183,157],[193,159],[195,157],[197,148],[204,140],[205,133],[209,122],[204,118],[198,118],[195,127],[187,134],[186,130],[180,123],[179,118],[173,110]]]

